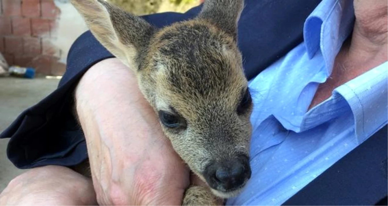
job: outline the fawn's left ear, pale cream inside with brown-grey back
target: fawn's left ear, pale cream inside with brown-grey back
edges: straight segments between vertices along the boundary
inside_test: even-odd
[[[109,52],[131,69],[139,69],[155,29],[104,0],[71,0],[95,36]]]

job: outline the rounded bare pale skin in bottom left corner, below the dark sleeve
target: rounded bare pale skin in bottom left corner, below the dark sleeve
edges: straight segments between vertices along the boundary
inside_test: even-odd
[[[94,206],[90,179],[64,166],[33,168],[14,178],[0,194],[0,206]]]

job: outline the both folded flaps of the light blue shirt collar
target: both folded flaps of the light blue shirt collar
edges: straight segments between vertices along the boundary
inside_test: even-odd
[[[352,32],[354,19],[353,0],[322,0],[305,21],[303,35],[308,57],[312,59],[320,52],[327,76],[333,70],[335,57],[343,42]],[[388,62],[333,91],[333,98],[342,96],[352,109],[359,143],[387,124],[388,103],[383,101],[388,99],[386,88]]]

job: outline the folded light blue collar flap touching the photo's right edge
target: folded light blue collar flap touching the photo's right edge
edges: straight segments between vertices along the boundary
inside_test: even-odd
[[[333,91],[352,109],[359,143],[388,123],[388,61]]]

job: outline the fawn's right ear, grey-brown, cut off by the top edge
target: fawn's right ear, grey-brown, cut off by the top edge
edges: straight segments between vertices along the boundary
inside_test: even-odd
[[[237,22],[244,0],[205,0],[197,18],[207,19],[237,40]]]

